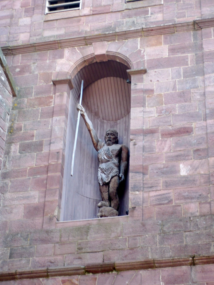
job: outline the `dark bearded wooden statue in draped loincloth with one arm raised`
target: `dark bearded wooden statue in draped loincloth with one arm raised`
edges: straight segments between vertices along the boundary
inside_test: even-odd
[[[82,105],[77,105],[77,110],[86,124],[92,143],[98,151],[98,182],[102,201],[98,203],[100,208],[98,218],[118,216],[119,199],[118,186],[125,180],[127,167],[128,147],[118,144],[118,132],[108,129],[105,135],[105,143],[98,138],[91,121]]]

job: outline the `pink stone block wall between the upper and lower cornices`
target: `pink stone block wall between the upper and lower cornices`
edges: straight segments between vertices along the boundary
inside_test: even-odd
[[[93,57],[93,46],[8,57],[20,93],[1,173],[2,271],[213,254],[213,145],[206,121],[207,113],[212,124],[213,86],[206,78],[213,75],[204,77],[203,63],[204,54],[212,58],[212,38],[202,37],[211,32],[106,45],[107,57],[124,54],[133,68],[140,53],[147,73],[131,79],[129,216],[89,222],[56,223],[68,93],[51,80],[82,54]]]

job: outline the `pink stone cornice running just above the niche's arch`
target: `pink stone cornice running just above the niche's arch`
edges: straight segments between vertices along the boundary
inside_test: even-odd
[[[214,18],[195,20],[187,23],[177,23],[170,25],[161,25],[150,28],[141,28],[137,30],[128,30],[115,33],[103,33],[85,37],[74,37],[62,40],[53,40],[50,42],[38,42],[34,44],[6,46],[2,47],[4,55],[22,54],[28,52],[38,52],[42,50],[54,50],[65,47],[77,47],[91,45],[93,42],[127,40],[136,37],[148,37],[152,35],[163,35],[169,33],[186,32],[190,30],[200,30],[214,26]]]

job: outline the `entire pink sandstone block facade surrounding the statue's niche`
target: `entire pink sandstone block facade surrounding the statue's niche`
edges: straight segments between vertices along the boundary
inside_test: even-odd
[[[0,1],[1,47],[19,88],[12,97],[0,69],[0,284],[213,285],[214,1],[44,11],[43,0]],[[132,70],[129,215],[57,222],[70,82],[102,60]],[[183,263],[163,265],[174,259]],[[162,265],[117,269],[136,260]],[[18,275],[106,263],[115,268]]]

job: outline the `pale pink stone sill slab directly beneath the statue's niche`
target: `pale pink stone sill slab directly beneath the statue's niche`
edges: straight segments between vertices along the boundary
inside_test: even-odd
[[[90,226],[103,223],[126,223],[128,216],[108,217],[101,219],[88,219],[88,220],[75,220],[75,221],[62,221],[56,222],[56,228],[70,228],[79,226]]]

